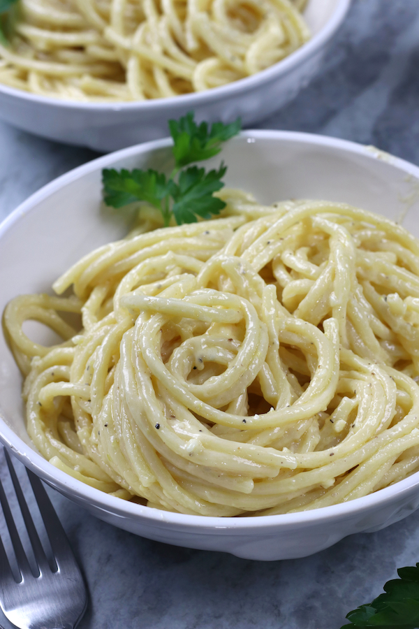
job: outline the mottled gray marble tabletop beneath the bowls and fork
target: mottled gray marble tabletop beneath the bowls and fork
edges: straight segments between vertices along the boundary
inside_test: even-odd
[[[321,73],[259,126],[374,144],[419,164],[418,64],[417,0],[353,0]],[[3,124],[0,145],[0,218],[95,157]],[[80,629],[339,629],[397,567],[419,561],[419,512],[309,558],[258,563],[143,540],[51,493],[89,586]]]

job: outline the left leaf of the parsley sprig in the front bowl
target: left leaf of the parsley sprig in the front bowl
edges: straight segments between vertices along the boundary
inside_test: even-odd
[[[161,200],[168,194],[166,175],[156,171],[102,171],[104,201],[112,208],[122,208],[134,201],[147,201],[161,209]]]

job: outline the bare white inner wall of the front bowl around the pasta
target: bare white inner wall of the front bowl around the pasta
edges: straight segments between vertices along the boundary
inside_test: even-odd
[[[419,168],[372,147],[304,133],[247,131],[231,140],[221,157],[228,165],[226,185],[247,189],[263,203],[287,198],[351,203],[403,219],[419,236]],[[220,159],[207,166],[218,166]],[[168,171],[170,164],[168,140],[131,147],[71,171],[17,208],[0,226],[1,312],[18,294],[50,292],[52,282],[82,255],[124,236],[129,216],[101,207],[103,167]],[[31,333],[38,335],[38,326]],[[30,461],[34,447],[24,426],[22,379],[3,335],[0,374],[0,436],[6,431]],[[45,466],[54,476],[55,468],[46,461]]]

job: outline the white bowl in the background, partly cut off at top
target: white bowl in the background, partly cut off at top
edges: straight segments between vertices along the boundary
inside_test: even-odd
[[[312,37],[292,55],[248,78],[206,92],[130,103],[80,103],[0,85],[0,118],[19,129],[68,144],[108,152],[163,138],[167,122],[194,110],[198,120],[244,126],[291,101],[321,65],[351,0],[309,0],[304,17]]]

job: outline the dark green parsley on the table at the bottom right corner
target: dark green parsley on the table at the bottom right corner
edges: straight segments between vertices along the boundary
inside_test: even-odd
[[[419,563],[397,570],[399,579],[392,579],[369,605],[361,605],[346,618],[351,624],[341,629],[418,629],[419,628]]]

